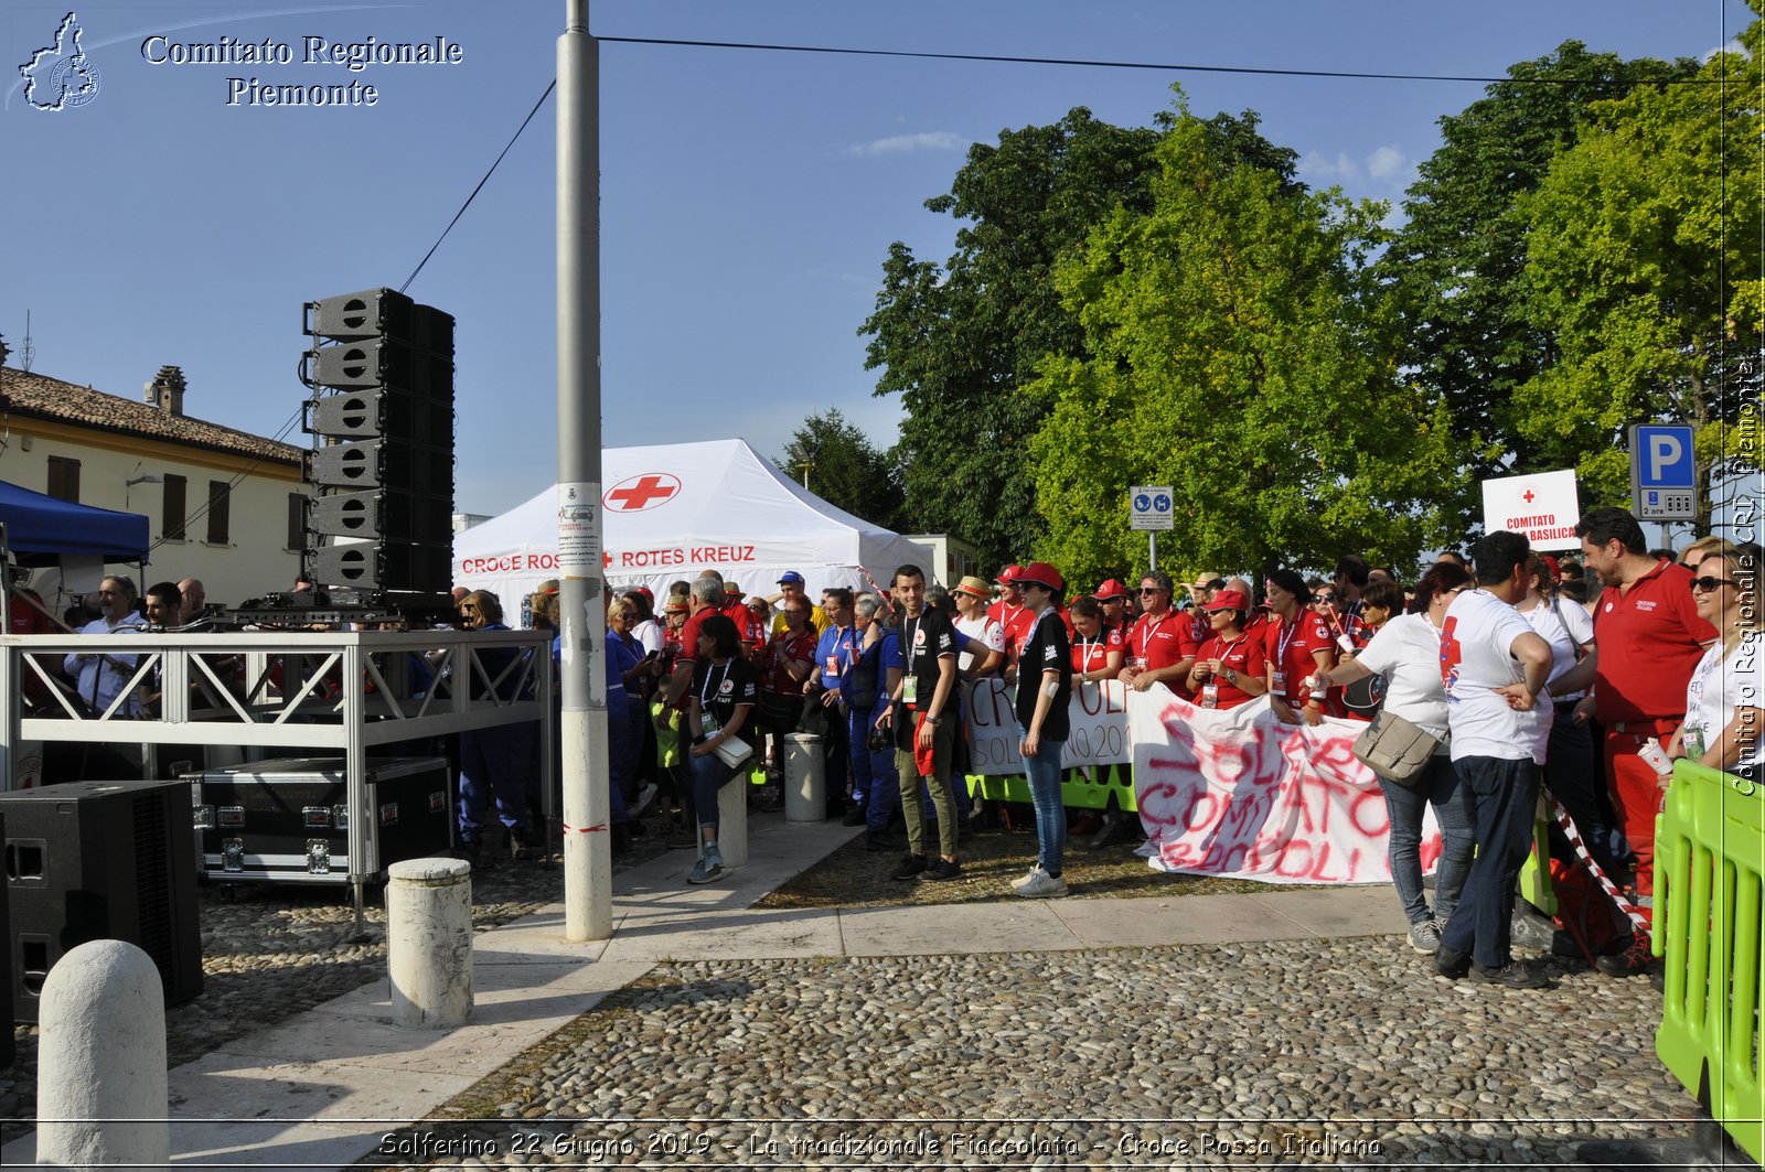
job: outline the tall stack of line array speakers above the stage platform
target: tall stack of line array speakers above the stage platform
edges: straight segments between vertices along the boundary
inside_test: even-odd
[[[330,600],[417,609],[454,586],[454,318],[394,289],[305,305],[305,568]]]

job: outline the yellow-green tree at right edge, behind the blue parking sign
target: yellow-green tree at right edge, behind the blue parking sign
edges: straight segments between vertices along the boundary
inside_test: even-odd
[[[1765,341],[1761,39],[1754,21],[1694,81],[1596,104],[1516,203],[1528,314],[1557,349],[1514,392],[1516,431],[1578,468],[1583,500],[1627,498],[1631,424],[1693,424],[1700,471],[1739,452]]]

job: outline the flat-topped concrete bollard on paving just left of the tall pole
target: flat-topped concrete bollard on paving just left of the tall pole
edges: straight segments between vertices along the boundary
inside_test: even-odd
[[[392,1024],[452,1029],[471,1017],[471,863],[413,858],[387,868]]]

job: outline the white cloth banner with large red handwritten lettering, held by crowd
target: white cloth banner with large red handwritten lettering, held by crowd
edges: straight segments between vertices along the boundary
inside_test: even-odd
[[[1352,720],[1283,724],[1267,697],[1218,711],[1128,692],[1133,796],[1154,870],[1266,883],[1389,883],[1391,815]],[[1423,823],[1423,870],[1440,831]]]

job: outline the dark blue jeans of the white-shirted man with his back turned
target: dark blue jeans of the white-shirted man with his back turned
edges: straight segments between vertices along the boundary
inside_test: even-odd
[[[1460,785],[1470,791],[1477,858],[1453,918],[1440,930],[1440,944],[1498,969],[1513,958],[1509,918],[1514,914],[1514,881],[1532,845],[1539,768],[1530,757],[1460,757],[1453,768]]]

